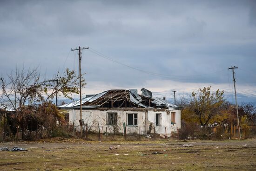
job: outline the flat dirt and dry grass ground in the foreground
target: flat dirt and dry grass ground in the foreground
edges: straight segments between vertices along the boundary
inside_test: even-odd
[[[183,147],[192,144],[193,147]],[[226,141],[84,141],[0,143],[0,171],[255,171],[256,139]],[[118,149],[109,150],[114,146]],[[161,154],[152,154],[160,152]]]

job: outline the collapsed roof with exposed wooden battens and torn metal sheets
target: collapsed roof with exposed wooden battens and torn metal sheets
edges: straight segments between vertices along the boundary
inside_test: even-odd
[[[112,89],[82,99],[82,108],[178,108],[167,100],[153,97],[152,92],[141,89]],[[59,108],[75,108],[80,100],[59,106]]]

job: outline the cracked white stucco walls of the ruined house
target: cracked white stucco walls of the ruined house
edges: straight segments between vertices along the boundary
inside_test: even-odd
[[[80,126],[80,110],[79,109],[68,109],[66,110],[69,113],[69,121],[70,124],[74,126]],[[123,123],[128,123],[127,121],[127,114],[135,113],[137,114],[137,126],[127,126],[127,133],[139,133],[139,128],[141,127],[141,134],[146,134],[145,125],[147,125],[147,131],[149,130],[150,123],[153,124],[155,127],[156,133],[165,134],[165,127],[167,130],[168,136],[170,136],[171,132],[177,131],[177,127],[181,127],[181,112],[180,110],[171,110],[170,112],[167,111],[153,111],[149,110],[148,112],[145,111],[123,111],[123,110],[90,110],[90,109],[83,109],[82,110],[82,119],[84,120],[85,124],[88,123],[88,127],[92,127],[93,131],[98,132],[98,123],[100,124],[100,129],[103,127],[103,132],[113,133],[111,130],[111,126],[107,125],[107,113],[115,112],[117,113],[118,118],[118,126],[119,132],[123,133]],[[176,112],[176,123],[174,125],[171,124],[171,112]],[[148,122],[145,123],[146,114],[148,117]],[[156,121],[156,114],[161,114],[160,126],[155,126]],[[80,127],[78,127],[80,128]]]

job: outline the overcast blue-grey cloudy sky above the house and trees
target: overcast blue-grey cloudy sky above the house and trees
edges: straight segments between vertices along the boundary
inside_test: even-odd
[[[256,98],[256,0],[0,0],[0,76],[78,70],[79,45],[85,94],[232,92],[236,65],[237,91]]]

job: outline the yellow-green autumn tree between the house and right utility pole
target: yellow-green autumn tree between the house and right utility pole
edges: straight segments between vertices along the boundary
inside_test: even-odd
[[[210,87],[192,92],[189,104],[182,110],[182,120],[197,122],[201,126],[222,123],[229,116],[229,106],[226,105],[223,93],[219,89],[211,92]]]

